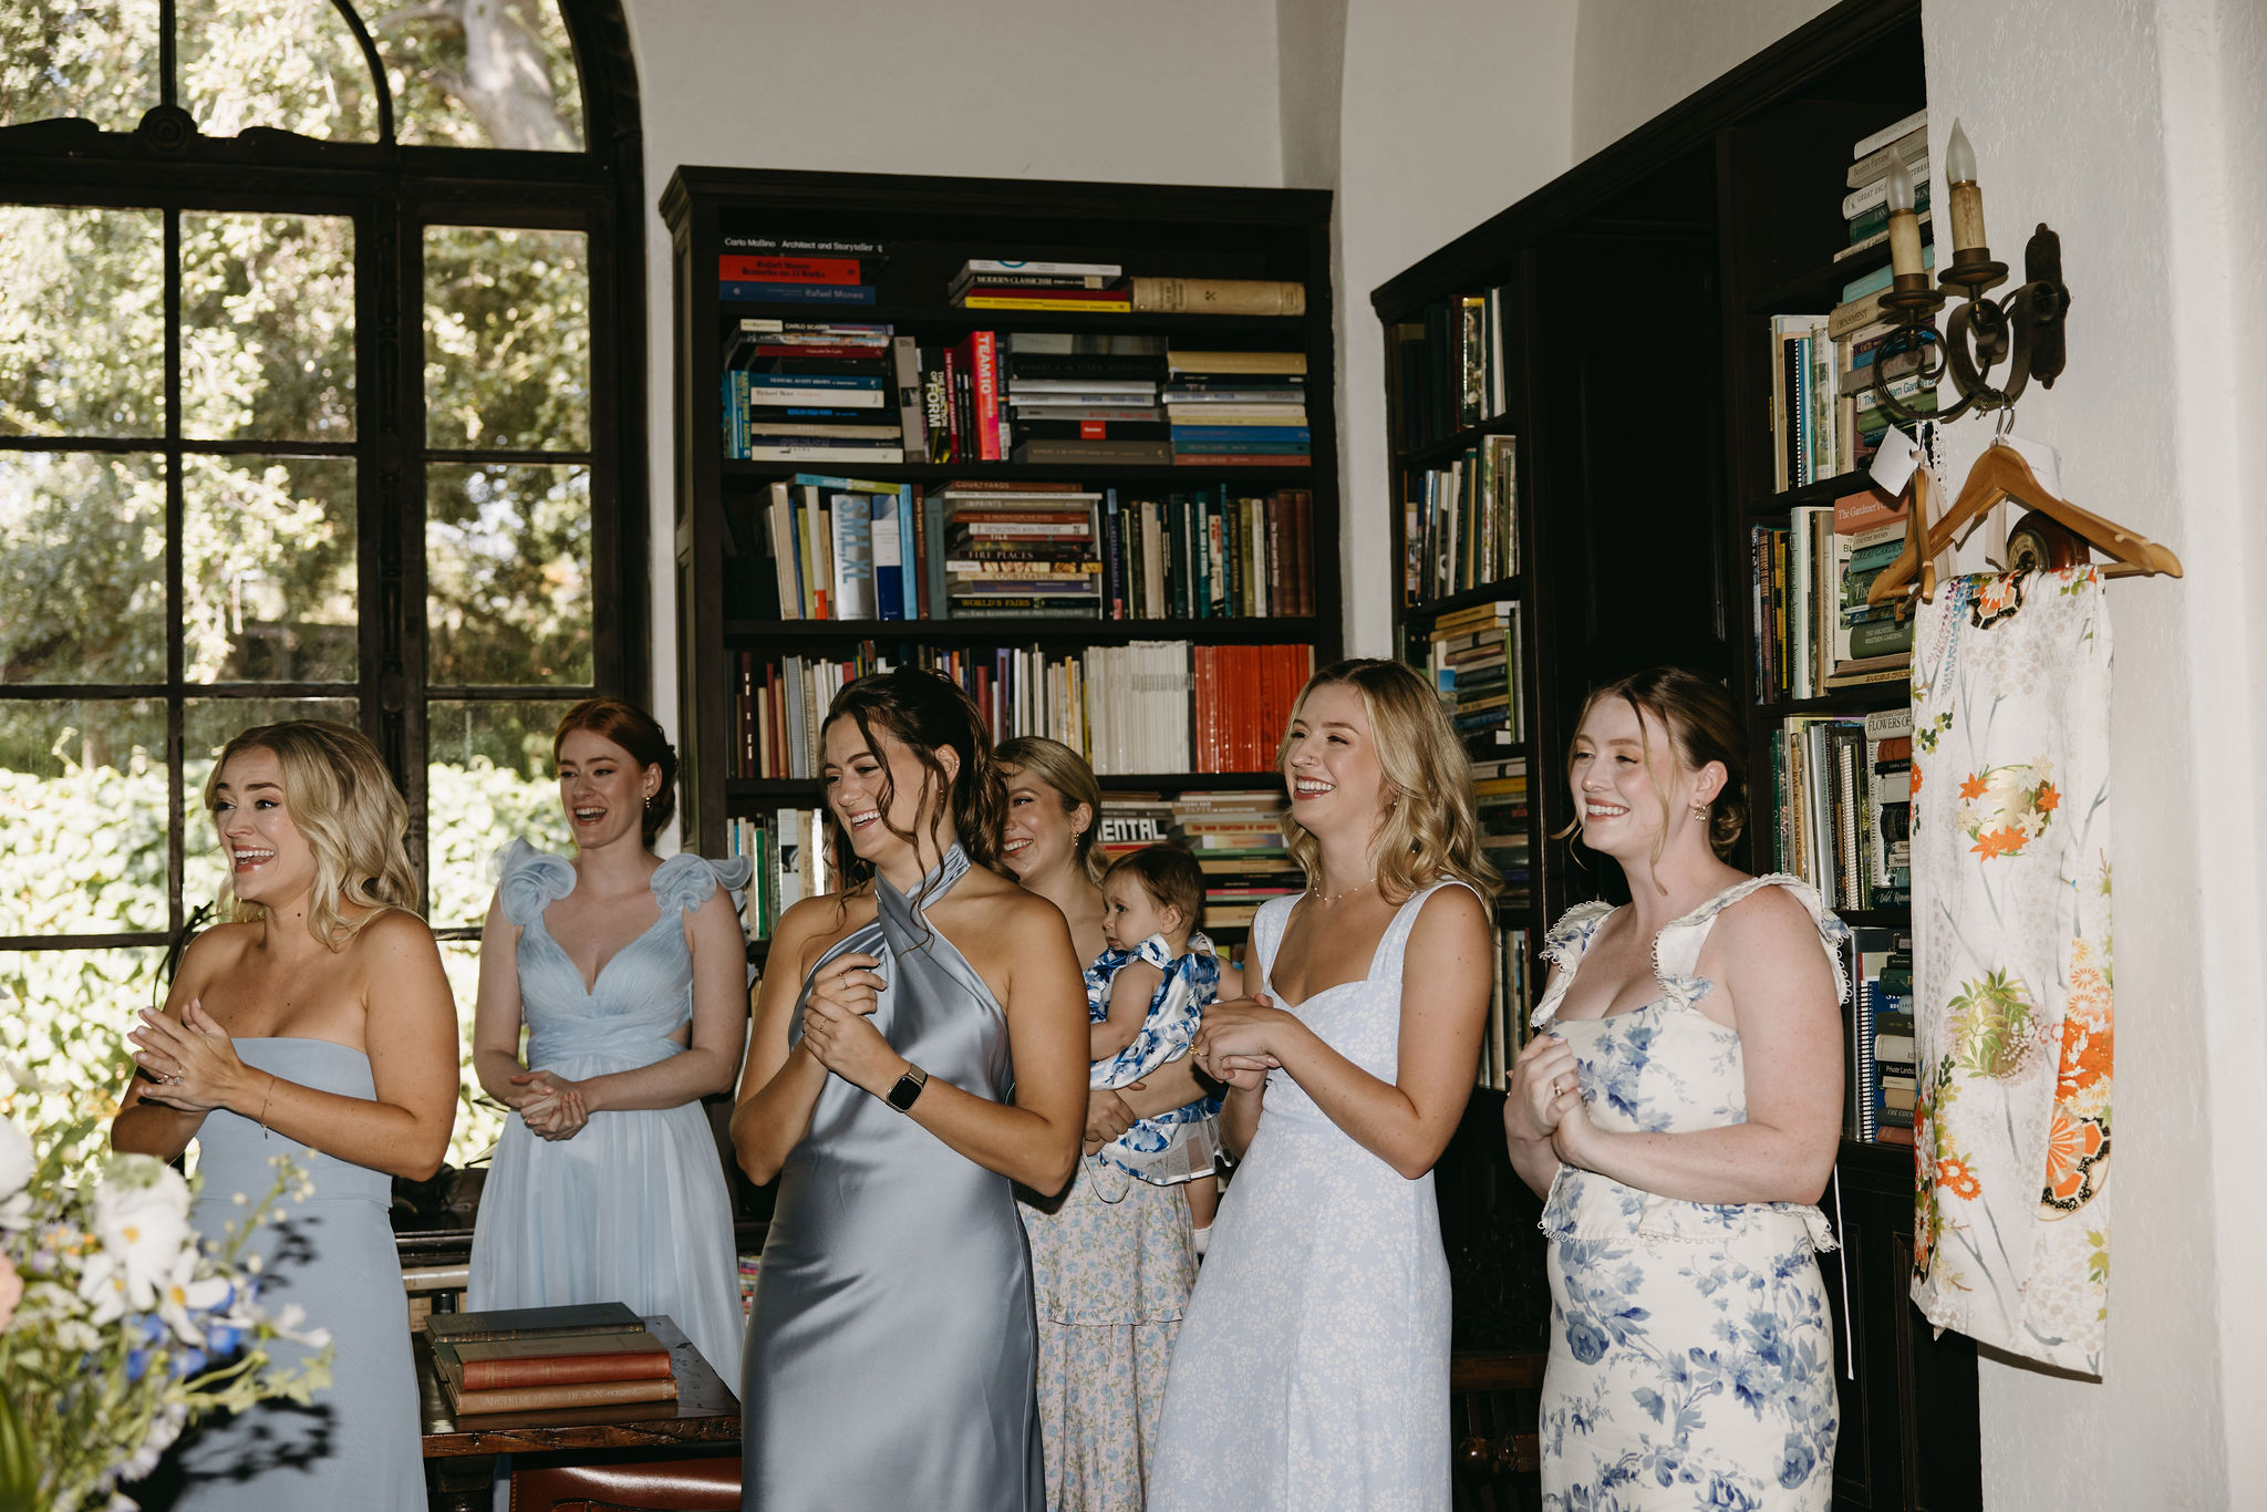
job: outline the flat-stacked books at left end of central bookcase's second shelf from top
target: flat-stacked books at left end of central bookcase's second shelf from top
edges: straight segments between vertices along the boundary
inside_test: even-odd
[[[741,320],[723,374],[723,453],[753,462],[902,462],[889,326]]]

